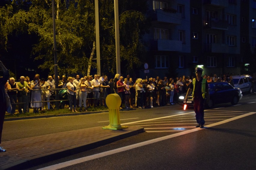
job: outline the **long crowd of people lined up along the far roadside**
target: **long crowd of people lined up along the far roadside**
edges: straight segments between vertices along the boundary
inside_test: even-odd
[[[95,74],[93,76],[80,75],[62,79],[58,76],[58,89],[66,88],[69,100],[69,107],[72,112],[87,111],[90,107],[105,106],[105,98],[108,94],[116,93],[121,98],[120,109],[122,108],[153,108],[155,106],[175,105],[178,102],[178,97],[187,92],[192,79],[194,77],[182,76],[176,78],[159,76],[156,78],[141,79],[138,78],[133,81],[130,75],[126,78],[123,75],[116,74],[114,79],[108,81],[108,76],[102,74],[101,76]],[[232,75],[224,74],[217,77],[203,75],[207,82],[223,81],[233,84]],[[26,113],[28,111],[28,102],[33,108],[34,113],[39,110],[50,109],[50,96],[54,94],[55,89],[54,76],[48,76],[47,80],[39,77],[36,74],[30,82],[28,76],[20,76],[20,81],[15,82],[13,77],[9,78],[6,84],[8,95],[12,103],[11,114],[14,114],[16,103],[18,102],[19,113]],[[31,91],[31,93],[29,93]],[[31,100],[28,101],[30,95]],[[44,102],[42,102],[44,101]],[[46,102],[47,101],[47,105]]]

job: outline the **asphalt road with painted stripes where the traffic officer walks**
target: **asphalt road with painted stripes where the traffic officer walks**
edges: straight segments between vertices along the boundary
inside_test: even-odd
[[[31,170],[77,158],[82,162],[68,162],[62,169],[256,169],[255,97],[244,95],[236,106],[206,110],[208,127],[200,130],[194,128],[193,109],[184,111],[179,105],[123,111],[122,124],[142,126],[146,132]],[[108,125],[108,113],[11,121],[4,123],[3,140],[103,125]]]

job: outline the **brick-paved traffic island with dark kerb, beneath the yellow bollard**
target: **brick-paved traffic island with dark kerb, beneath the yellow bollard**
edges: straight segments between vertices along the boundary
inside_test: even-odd
[[[121,130],[94,127],[5,141],[1,146],[7,151],[0,153],[0,170],[26,169],[142,132],[144,128],[138,126]]]

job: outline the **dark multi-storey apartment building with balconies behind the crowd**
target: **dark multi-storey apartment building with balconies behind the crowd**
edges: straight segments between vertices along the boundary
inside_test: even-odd
[[[148,76],[193,75],[198,65],[204,74],[239,74],[256,47],[254,0],[149,0],[148,7]]]

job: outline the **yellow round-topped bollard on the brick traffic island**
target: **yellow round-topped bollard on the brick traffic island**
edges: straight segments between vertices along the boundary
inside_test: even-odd
[[[109,125],[103,126],[102,129],[119,130],[128,128],[128,126],[120,125],[120,112],[121,98],[118,94],[109,94],[106,97],[106,105],[109,111]]]

